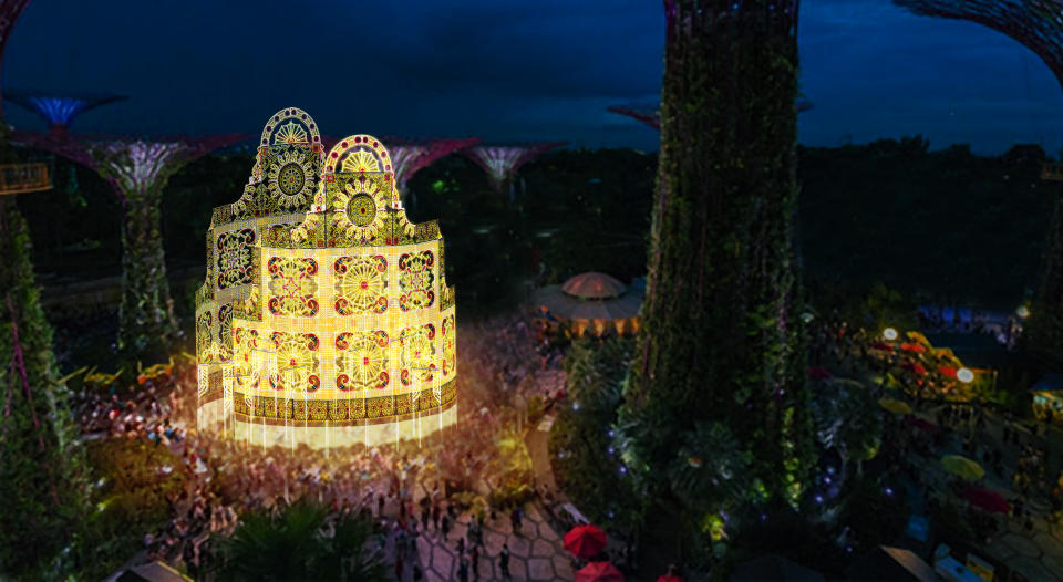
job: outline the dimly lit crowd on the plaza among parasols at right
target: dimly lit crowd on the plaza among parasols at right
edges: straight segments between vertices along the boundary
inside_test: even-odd
[[[902,350],[844,323],[821,325],[814,333],[813,358],[839,374],[860,377],[876,398],[907,398],[907,415],[885,415],[879,457],[895,475],[910,482],[933,515],[958,507],[976,543],[989,547],[1013,530],[1032,534],[1034,520],[1049,528],[1063,521],[1063,475],[1046,470],[1050,426],[1020,418],[1007,407],[979,398],[949,367],[938,365],[930,350]],[[943,372],[942,372],[943,371]],[[878,382],[875,380],[879,378]],[[887,380],[894,382],[887,386]],[[984,477],[963,479],[943,470],[942,455],[957,454],[984,468]],[[992,511],[969,502],[972,490],[993,490],[1007,499]]]

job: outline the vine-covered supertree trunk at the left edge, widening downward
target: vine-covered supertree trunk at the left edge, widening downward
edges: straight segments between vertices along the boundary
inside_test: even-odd
[[[7,137],[0,141],[6,149]],[[10,196],[0,198],[0,578],[37,578],[70,542],[85,489],[33,282],[29,229]]]

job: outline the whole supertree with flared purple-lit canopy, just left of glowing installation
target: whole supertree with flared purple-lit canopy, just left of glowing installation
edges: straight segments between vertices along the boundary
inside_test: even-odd
[[[180,336],[166,281],[159,220],[163,189],[192,160],[247,136],[137,138],[17,132],[14,138],[89,167],[114,188],[123,206],[118,350],[127,355],[158,355]]]

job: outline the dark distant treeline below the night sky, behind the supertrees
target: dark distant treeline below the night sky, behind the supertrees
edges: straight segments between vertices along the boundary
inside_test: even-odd
[[[1004,309],[1035,289],[1061,188],[1040,179],[1040,147],[985,157],[966,146],[929,152],[926,139],[910,137],[798,153],[798,232],[812,289],[863,293],[881,281],[919,301]],[[209,156],[171,179],[163,229],[172,271],[204,264],[210,210],[239,197],[251,165],[248,156]],[[440,220],[460,303],[505,306],[535,279],[644,274],[656,172],[656,154],[560,150],[523,168],[510,199],[453,155],[410,180],[406,205],[414,220]],[[53,174],[54,190],[19,197],[38,272],[50,274],[45,283],[117,274],[114,194],[62,159]],[[186,301],[193,283],[177,283],[175,299]]]

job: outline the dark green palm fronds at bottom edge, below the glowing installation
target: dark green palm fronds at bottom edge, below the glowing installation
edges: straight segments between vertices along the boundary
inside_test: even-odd
[[[383,557],[367,549],[372,520],[340,517],[327,533],[324,507],[300,500],[276,517],[256,510],[223,542],[221,580],[388,580]]]

